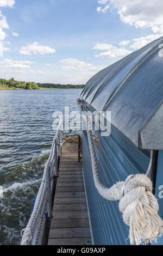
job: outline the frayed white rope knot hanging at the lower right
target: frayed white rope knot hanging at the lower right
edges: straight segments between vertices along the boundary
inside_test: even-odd
[[[120,200],[123,221],[130,227],[130,243],[152,242],[163,232],[163,221],[158,215],[159,205],[152,194],[152,181],[144,174],[136,174],[127,181]]]

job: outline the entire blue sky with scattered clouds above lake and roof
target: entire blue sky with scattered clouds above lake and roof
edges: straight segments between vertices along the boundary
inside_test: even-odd
[[[163,35],[162,0],[0,0],[0,78],[85,84]]]

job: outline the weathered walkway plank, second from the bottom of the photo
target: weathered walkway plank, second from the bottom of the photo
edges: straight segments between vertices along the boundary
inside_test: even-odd
[[[90,228],[51,228],[49,239],[73,238],[73,237],[90,237]]]

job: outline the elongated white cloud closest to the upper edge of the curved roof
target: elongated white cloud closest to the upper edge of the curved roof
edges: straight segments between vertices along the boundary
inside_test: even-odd
[[[122,57],[126,56],[129,53],[131,53],[130,50],[124,49],[124,48],[118,48],[114,45],[110,44],[96,44],[93,47],[94,50],[109,50],[106,52],[101,52],[99,54],[96,54],[95,57],[103,57],[103,58],[116,58],[116,57]]]

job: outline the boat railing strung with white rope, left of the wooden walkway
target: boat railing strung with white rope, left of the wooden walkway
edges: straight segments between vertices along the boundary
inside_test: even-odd
[[[27,227],[21,230],[21,245],[36,245],[39,239],[43,215],[52,218],[52,196],[51,196],[51,178],[54,170],[54,178],[58,177],[58,157],[60,157],[60,149],[62,143],[62,133],[60,131],[62,119],[60,118],[57,133],[53,139],[51,151],[41,180],[41,185],[35,200],[34,208]],[[45,209],[47,212],[45,213]]]

